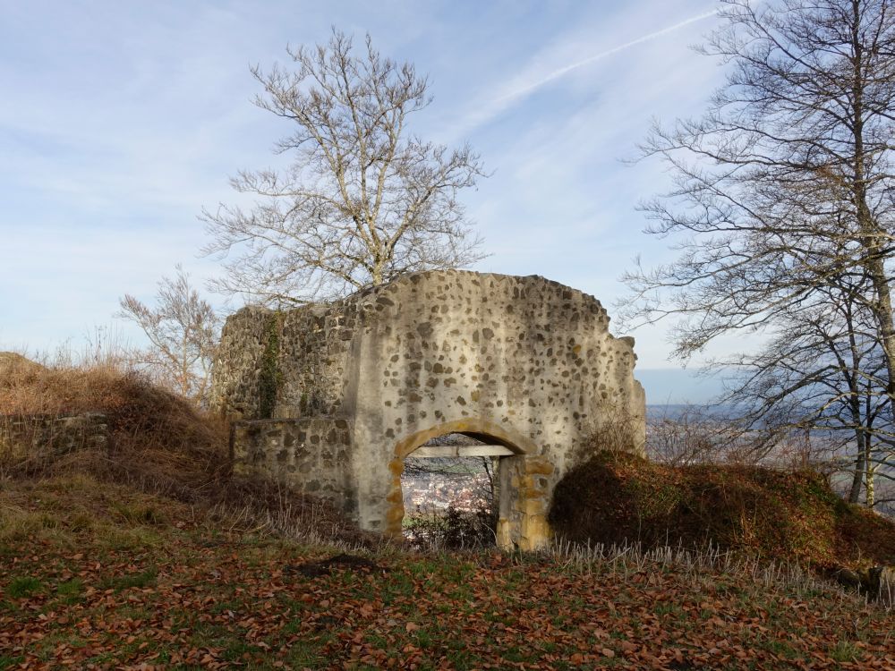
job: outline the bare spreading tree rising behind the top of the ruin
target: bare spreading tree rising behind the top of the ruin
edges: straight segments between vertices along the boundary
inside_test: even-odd
[[[410,133],[410,115],[431,101],[426,78],[380,56],[369,36],[355,55],[337,30],[328,45],[287,53],[294,69],[251,73],[264,88],[255,104],[293,124],[276,151],[294,160],[231,179],[255,198],[250,210],[203,211],[205,251],[226,257],[217,288],[307,302],[481,259],[456,200],[482,175],[478,155]]]

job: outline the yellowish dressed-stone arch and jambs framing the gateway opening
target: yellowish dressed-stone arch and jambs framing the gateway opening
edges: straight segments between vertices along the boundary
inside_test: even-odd
[[[391,488],[386,497],[388,513],[385,533],[393,538],[400,538],[402,535],[405,509],[401,475],[404,472],[405,458],[431,438],[451,433],[495,444],[489,446],[492,448],[489,450],[476,448],[476,455],[500,458],[498,547],[525,550],[541,548],[550,538],[546,514],[553,465],[538,456],[537,446],[530,437],[482,418],[444,422],[417,431],[396,444],[394,458],[388,463]]]

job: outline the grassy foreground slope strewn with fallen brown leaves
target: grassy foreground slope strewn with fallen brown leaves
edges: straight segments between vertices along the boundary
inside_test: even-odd
[[[302,546],[78,477],[0,481],[0,669],[895,668],[895,616],[631,556]]]

